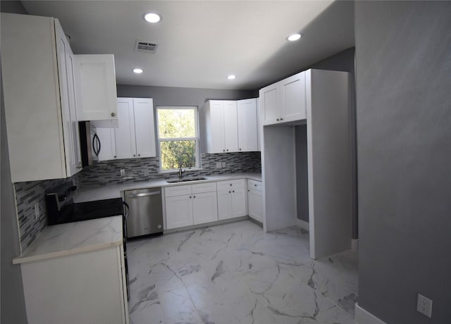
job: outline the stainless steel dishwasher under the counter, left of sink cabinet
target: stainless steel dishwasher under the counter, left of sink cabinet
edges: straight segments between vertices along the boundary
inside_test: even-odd
[[[125,202],[128,238],[163,232],[161,188],[126,190]]]

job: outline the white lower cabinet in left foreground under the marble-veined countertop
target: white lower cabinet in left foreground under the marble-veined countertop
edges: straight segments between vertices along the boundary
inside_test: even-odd
[[[123,245],[20,268],[28,323],[128,323]]]

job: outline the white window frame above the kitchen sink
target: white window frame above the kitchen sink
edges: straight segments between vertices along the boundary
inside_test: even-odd
[[[160,138],[160,122],[159,122],[159,109],[185,109],[185,110],[194,110],[194,130],[196,131],[196,137],[171,137],[169,139],[161,139]],[[195,141],[196,145],[196,158],[195,163],[196,167],[188,170],[202,170],[200,166],[200,155],[199,155],[199,108],[198,106],[156,106],[156,139],[158,142],[158,156],[159,156],[159,173],[173,173],[178,172],[179,168],[175,169],[163,169],[161,158],[161,142],[176,142],[176,141]]]

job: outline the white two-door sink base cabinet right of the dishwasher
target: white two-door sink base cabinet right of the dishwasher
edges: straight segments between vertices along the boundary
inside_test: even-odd
[[[218,220],[216,182],[166,187],[166,230]]]

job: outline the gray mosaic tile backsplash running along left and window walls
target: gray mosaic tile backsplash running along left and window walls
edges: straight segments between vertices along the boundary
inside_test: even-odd
[[[226,163],[225,168],[216,168],[216,163]],[[260,152],[202,154],[202,170],[187,170],[186,175],[217,175],[223,173],[261,172]],[[121,169],[125,176],[121,176]],[[46,225],[44,194],[54,187],[70,183],[79,188],[88,185],[110,185],[139,182],[163,177],[175,177],[176,173],[158,173],[159,158],[133,158],[94,162],[93,166],[68,179],[17,182],[14,184],[18,211],[20,248],[25,251]],[[39,217],[35,218],[35,204]]]

